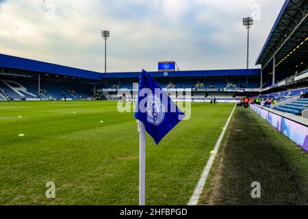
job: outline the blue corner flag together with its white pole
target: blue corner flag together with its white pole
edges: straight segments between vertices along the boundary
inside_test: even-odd
[[[185,114],[173,103],[157,81],[142,70],[135,111],[140,132],[139,205],[145,205],[145,130],[158,145],[184,117]]]

